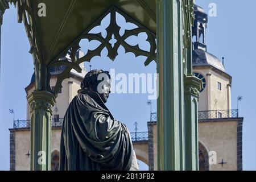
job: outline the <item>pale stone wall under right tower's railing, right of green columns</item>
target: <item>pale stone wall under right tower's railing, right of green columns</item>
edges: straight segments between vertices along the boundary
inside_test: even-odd
[[[243,118],[208,119],[199,122],[199,141],[208,152],[216,152],[216,164],[209,165],[212,171],[238,170],[237,127]],[[219,164],[222,162],[225,164]]]

